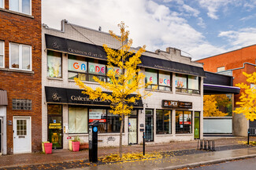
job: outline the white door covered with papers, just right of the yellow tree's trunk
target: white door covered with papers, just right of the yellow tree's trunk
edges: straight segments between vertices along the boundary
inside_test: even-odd
[[[128,139],[129,144],[137,144],[137,118],[129,118]]]

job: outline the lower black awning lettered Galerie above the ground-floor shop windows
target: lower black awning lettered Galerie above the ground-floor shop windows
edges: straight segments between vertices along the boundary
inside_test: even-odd
[[[109,107],[111,103],[110,101],[102,101],[100,98],[90,99],[88,95],[82,93],[82,89],[65,89],[46,86],[45,90],[47,103],[64,103],[100,107]],[[106,93],[111,94],[111,92]],[[139,99],[139,101],[136,101],[132,105],[135,109],[143,109],[142,99]]]

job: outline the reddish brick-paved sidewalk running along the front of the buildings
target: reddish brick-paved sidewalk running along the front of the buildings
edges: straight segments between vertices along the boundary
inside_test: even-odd
[[[209,138],[207,138],[209,139]],[[239,144],[239,141],[246,141],[246,137],[227,137],[227,138],[211,138],[215,140],[215,146],[234,146]],[[252,139],[253,140],[253,139]],[[256,140],[256,139],[254,139]],[[146,152],[163,152],[172,150],[189,150],[197,148],[197,141],[179,142],[179,143],[164,143],[164,144],[147,144]],[[101,147],[98,148],[98,157],[109,155],[118,152],[118,147]],[[124,146],[124,153],[129,152],[142,152],[143,146]],[[215,152],[219,153],[219,152]],[[193,156],[193,155],[191,155]],[[87,160],[88,150],[80,152],[71,152],[69,150],[53,150],[53,154],[13,154],[0,156],[0,168],[17,167],[24,165],[42,165],[49,163],[65,162],[65,161],[77,161]],[[104,165],[103,165],[104,166]]]

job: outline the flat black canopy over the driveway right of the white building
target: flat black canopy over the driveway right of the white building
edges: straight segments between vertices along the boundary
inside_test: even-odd
[[[203,94],[212,95],[212,94],[239,94],[240,88],[226,85],[210,85],[203,84]]]

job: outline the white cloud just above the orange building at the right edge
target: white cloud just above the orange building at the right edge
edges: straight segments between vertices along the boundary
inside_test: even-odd
[[[239,31],[221,31],[218,37],[225,38],[233,49],[256,44],[256,28],[248,27]]]

